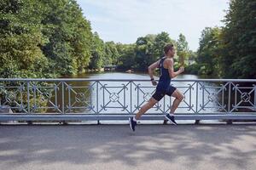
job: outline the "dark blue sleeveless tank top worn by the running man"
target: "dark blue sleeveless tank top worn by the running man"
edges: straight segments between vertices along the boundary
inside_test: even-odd
[[[168,69],[166,69],[164,67],[165,59],[166,59],[166,57],[163,57],[162,59],[160,59],[160,79],[159,79],[156,89],[166,91],[167,88],[169,88],[169,86],[170,86],[171,77],[169,75]]]

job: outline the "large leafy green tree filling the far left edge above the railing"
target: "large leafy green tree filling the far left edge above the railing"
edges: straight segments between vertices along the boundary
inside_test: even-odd
[[[0,76],[49,77],[48,59],[40,47],[45,38],[32,0],[0,3]]]

